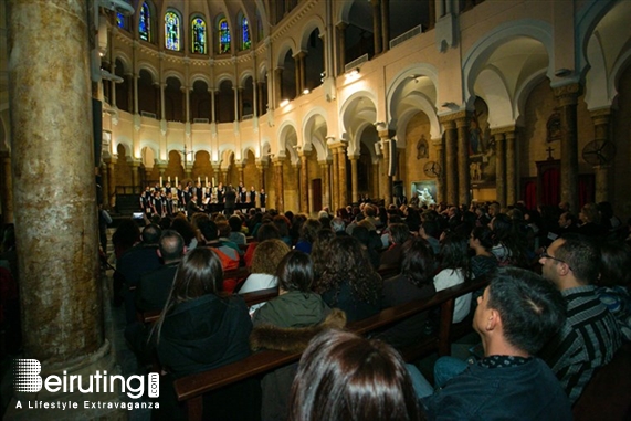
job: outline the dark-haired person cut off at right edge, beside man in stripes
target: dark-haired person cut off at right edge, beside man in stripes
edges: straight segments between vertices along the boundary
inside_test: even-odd
[[[621,240],[600,245],[600,274],[596,295],[616,316],[622,339],[631,341],[631,246]]]

